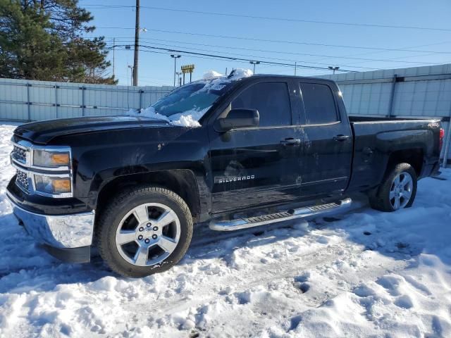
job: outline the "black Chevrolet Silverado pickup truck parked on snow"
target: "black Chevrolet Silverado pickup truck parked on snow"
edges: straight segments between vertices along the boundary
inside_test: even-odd
[[[337,212],[412,206],[439,167],[438,120],[348,118],[330,80],[214,77],[142,113],[18,127],[13,213],[64,261],[92,246],[117,273],[171,268],[193,223],[229,231]]]

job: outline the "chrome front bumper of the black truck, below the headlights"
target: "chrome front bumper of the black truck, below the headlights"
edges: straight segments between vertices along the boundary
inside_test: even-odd
[[[6,191],[13,213],[25,230],[56,258],[73,263],[90,259],[94,234],[94,211],[65,215],[44,215],[27,211]]]

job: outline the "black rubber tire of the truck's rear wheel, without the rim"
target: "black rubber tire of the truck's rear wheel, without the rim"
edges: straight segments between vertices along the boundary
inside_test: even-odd
[[[369,202],[371,208],[386,212],[393,212],[397,210],[397,208],[393,207],[392,201],[390,201],[390,190],[393,187],[395,178],[402,175],[402,173],[408,173],[412,177],[411,195],[407,201],[407,204],[405,204],[402,208],[410,208],[412,206],[416,196],[416,185],[418,180],[416,177],[416,171],[412,168],[412,165],[409,165],[409,163],[399,163],[395,165],[395,167],[390,170],[387,175],[385,175],[383,183],[378,187],[376,192],[370,194]]]

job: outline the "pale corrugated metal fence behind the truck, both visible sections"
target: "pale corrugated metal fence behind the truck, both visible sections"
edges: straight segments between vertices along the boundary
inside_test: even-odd
[[[451,64],[323,77],[338,82],[349,115],[440,118],[442,157],[451,158]],[[145,108],[172,89],[0,79],[0,120],[116,115]]]

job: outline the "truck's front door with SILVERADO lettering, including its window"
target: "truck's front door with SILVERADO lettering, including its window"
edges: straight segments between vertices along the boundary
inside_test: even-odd
[[[259,127],[209,129],[214,213],[299,198],[302,148],[292,125],[289,86],[259,80],[231,98],[228,108],[259,111]]]

